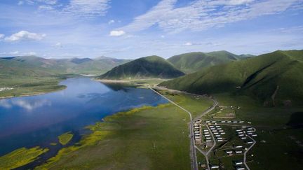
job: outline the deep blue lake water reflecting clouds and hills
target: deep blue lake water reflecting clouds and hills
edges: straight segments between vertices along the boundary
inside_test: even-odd
[[[0,156],[22,147],[48,147],[58,136],[107,115],[140,106],[166,103],[152,90],[105,85],[90,78],[69,78],[65,90],[32,97],[0,99]]]

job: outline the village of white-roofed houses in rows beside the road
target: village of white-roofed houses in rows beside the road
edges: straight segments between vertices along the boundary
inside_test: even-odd
[[[250,124],[243,120],[196,120],[195,145],[206,157],[198,160],[199,169],[249,169],[246,155],[257,137]]]

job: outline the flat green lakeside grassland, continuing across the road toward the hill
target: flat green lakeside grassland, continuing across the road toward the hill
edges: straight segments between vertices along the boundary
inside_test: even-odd
[[[166,96],[196,113],[212,105],[182,94]],[[172,104],[116,113],[36,169],[190,169],[188,122],[187,113]]]

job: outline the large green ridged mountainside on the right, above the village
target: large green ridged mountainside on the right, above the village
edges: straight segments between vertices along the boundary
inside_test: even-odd
[[[265,103],[302,101],[303,50],[275,51],[212,66],[160,86],[198,94],[234,92]]]

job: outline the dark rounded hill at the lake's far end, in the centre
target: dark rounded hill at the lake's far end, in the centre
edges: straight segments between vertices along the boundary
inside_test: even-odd
[[[116,66],[99,78],[176,78],[183,75],[182,71],[176,69],[166,59],[158,56],[149,56]]]

